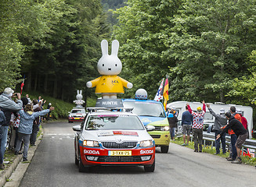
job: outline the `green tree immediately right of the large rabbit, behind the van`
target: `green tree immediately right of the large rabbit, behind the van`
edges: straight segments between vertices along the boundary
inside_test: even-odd
[[[172,19],[181,2],[129,0],[128,6],[115,11],[119,23],[114,26],[113,37],[121,44],[119,58],[124,67],[121,76],[134,83],[128,96],[144,88],[153,98],[160,79],[168,73],[168,66],[175,66],[173,58],[166,55],[169,48],[166,30],[174,26]]]

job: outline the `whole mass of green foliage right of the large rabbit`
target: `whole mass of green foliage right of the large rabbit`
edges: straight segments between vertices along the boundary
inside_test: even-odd
[[[124,73],[153,98],[169,75],[171,101],[232,102],[233,79],[248,75],[255,2],[130,0],[117,9]],[[128,93],[129,94],[129,93]],[[131,95],[131,94],[130,94]]]

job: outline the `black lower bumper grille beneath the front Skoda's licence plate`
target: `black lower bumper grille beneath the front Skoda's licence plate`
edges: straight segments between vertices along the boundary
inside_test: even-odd
[[[141,162],[140,156],[100,156],[97,162]]]

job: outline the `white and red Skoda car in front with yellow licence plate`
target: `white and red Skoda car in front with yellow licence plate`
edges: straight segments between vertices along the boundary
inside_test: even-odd
[[[137,115],[91,108],[73,129],[79,171],[97,165],[142,165],[145,171],[154,171],[155,143]]]

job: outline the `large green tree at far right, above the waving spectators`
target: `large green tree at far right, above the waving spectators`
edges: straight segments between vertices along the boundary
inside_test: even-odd
[[[245,59],[255,46],[255,1],[187,0],[170,30],[168,54],[175,96],[229,100],[232,81],[247,74]],[[177,99],[177,98],[175,98]]]

